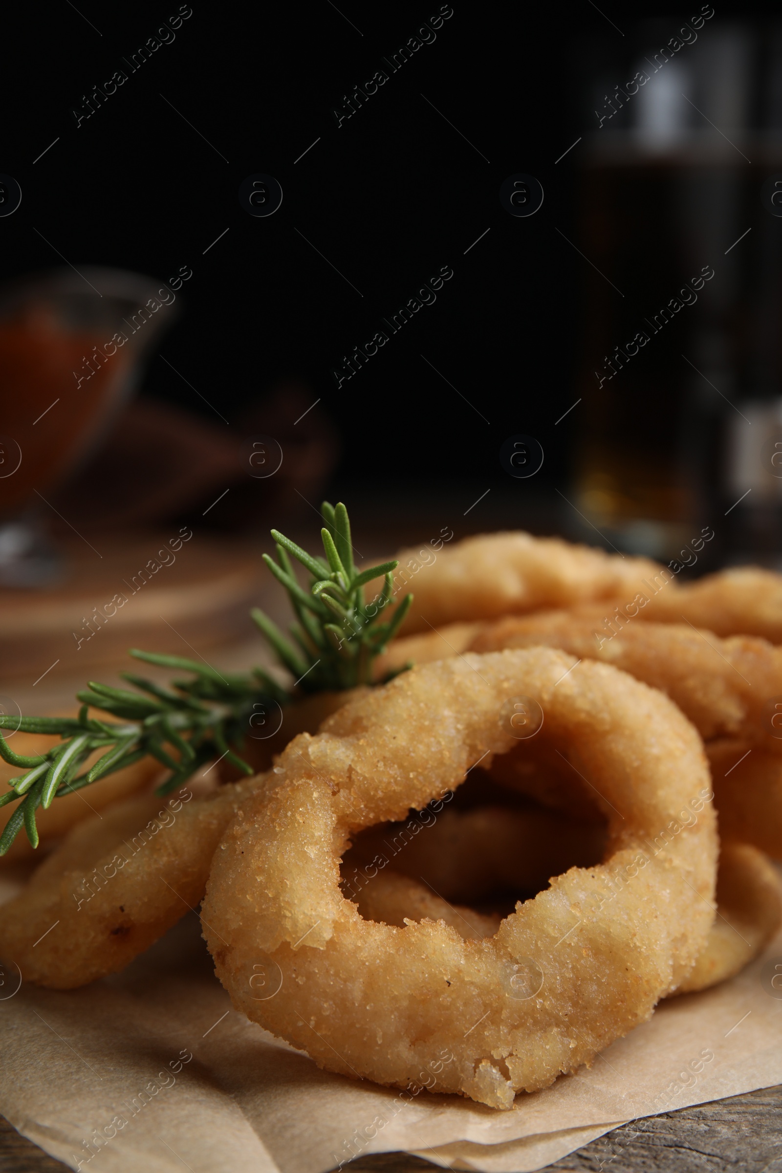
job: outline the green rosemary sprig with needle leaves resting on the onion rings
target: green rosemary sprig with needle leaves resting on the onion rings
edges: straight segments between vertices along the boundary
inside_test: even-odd
[[[413,596],[402,599],[388,622],[379,622],[394,596],[396,561],[359,574],[353,562],[347,509],[344,504],[334,508],[324,502],[321,514],[325,557],[313,557],[274,529],[278,561],[264,555],[266,565],[291,598],[297,617],[290,629],[293,642],[259,608],[252,611],[279,662],[293,674],[294,685],[284,689],[259,667],[249,674],[223,676],[208,664],[131,649],[130,655],[138,660],[190,672],[191,678],[175,679],[170,687],[162,687],[132,672],[123,672],[123,679],[136,691],[91,680],[76,693],[82,703],[77,718],[0,717],[0,728],[61,738],[59,745],[45,753],[25,755],[15,753],[0,734],[0,755],[21,771],[9,780],[11,789],[0,795],[0,806],[19,801],[0,835],[0,855],[5,855],[22,826],[33,847],[38,847],[39,807],[46,809],[55,798],[72,794],[148,755],[171,771],[157,788],[161,795],[176,789],[213,758],[224,758],[243,773],[252,774],[252,766],[236,751],[242,751],[251,718],[259,707],[288,704],[300,692],[373,683],[372,662],[394,638]],[[308,590],[299,584],[290,556],[310,572]],[[367,603],[365,586],[379,577],[383,578],[382,590]],[[117,720],[90,718],[90,708]],[[101,750],[97,761],[80,773],[87,759]]]

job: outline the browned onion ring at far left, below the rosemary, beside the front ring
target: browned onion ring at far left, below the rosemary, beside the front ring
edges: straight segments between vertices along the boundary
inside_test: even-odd
[[[131,799],[75,827],[0,906],[2,960],[54,990],[123,969],[198,904],[220,835],[258,781]]]

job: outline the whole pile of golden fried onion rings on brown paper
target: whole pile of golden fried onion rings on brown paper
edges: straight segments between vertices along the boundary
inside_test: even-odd
[[[762,855],[782,859],[768,711],[776,698],[782,712],[782,649],[757,637],[782,642],[782,577],[681,585],[646,560],[526,534],[401,557],[419,633],[379,678],[431,663],[291,706],[257,762],[283,750],[273,771],[179,802],[170,823],[165,800],[144,798],[72,830],[0,908],[1,955],[25,979],[114,972],[206,889],[218,975],[253,1021],[329,1070],[396,1086],[447,1045],[431,1090],[508,1107],[659,998],[759,955],[782,914]],[[379,866],[394,820],[442,806],[467,774],[457,800],[472,787],[480,804],[457,801]],[[510,806],[491,806],[497,789]],[[499,908],[499,889],[524,902]],[[286,992],[259,998],[259,967]]]

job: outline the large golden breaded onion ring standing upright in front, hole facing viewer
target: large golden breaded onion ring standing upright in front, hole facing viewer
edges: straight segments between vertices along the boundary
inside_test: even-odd
[[[351,836],[506,753],[521,694],[600,792],[606,862],[571,868],[484,940],[365,921],[339,887]],[[404,1087],[447,1046],[433,1090],[509,1107],[647,1019],[692,969],[713,918],[715,820],[702,799],[689,827],[676,813],[708,792],[692,725],[607,665],[550,649],[429,664],[287,746],[215,853],[204,935],[233,1004],[319,1065]],[[529,965],[542,985],[519,999]],[[279,982],[259,992],[261,970]]]

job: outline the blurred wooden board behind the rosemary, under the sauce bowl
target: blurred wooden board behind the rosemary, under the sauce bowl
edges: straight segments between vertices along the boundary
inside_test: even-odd
[[[95,541],[100,554],[87,543],[68,549],[52,588],[0,590],[4,680],[32,686],[55,662],[60,674],[84,676],[132,646],[193,658],[188,644],[251,633],[247,612],[270,578],[257,545],[200,535],[176,551],[171,535]]]

